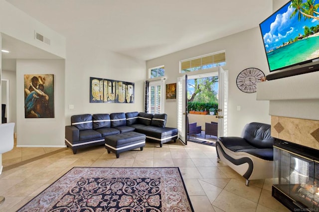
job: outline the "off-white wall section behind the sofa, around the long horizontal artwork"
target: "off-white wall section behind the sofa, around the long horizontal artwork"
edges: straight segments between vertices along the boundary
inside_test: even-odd
[[[143,111],[146,63],[68,39],[65,63],[65,122],[73,114]],[[135,83],[135,103],[90,103],[90,77]],[[74,109],[69,109],[74,105]]]

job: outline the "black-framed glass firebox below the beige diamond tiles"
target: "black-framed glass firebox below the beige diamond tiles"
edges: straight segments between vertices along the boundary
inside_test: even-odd
[[[275,138],[272,196],[291,211],[319,211],[319,150]]]

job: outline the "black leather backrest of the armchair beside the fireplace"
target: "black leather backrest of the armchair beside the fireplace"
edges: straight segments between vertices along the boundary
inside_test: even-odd
[[[274,138],[270,129],[270,124],[252,122],[245,125],[242,137],[257,148],[273,148]]]

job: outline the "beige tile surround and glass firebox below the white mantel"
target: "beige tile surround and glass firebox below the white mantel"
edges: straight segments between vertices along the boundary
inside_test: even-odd
[[[272,195],[291,211],[319,212],[319,121],[272,116]]]

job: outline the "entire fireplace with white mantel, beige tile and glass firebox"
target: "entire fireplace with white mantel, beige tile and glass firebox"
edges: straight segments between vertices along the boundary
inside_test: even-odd
[[[292,67],[294,68],[294,67]],[[318,211],[319,72],[257,84],[269,101],[274,145],[273,196],[291,211]]]

